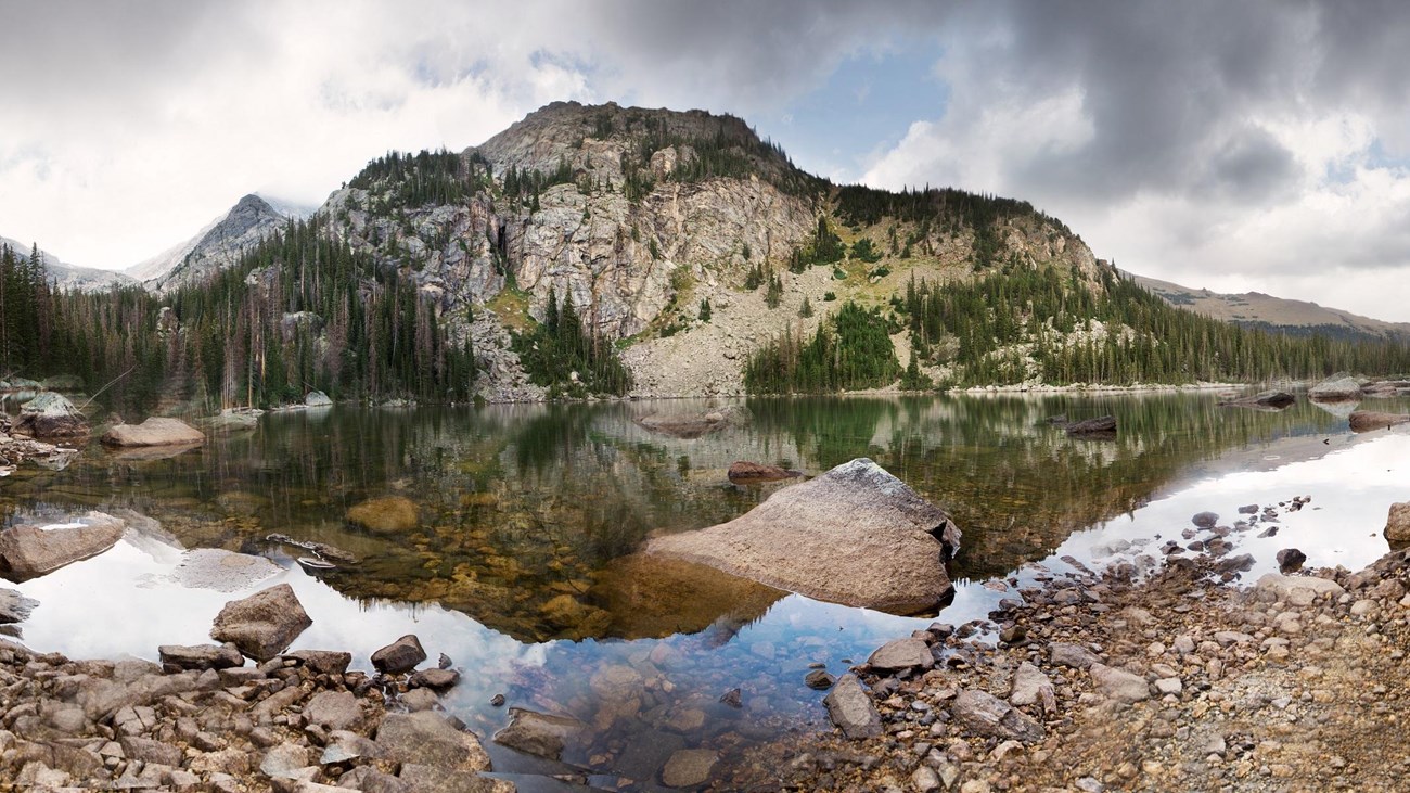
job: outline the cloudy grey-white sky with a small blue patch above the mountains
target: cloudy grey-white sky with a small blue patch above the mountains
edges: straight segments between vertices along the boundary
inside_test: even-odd
[[[0,0],[0,234],[124,268],[560,99],[1032,202],[1122,270],[1410,322],[1396,0]]]

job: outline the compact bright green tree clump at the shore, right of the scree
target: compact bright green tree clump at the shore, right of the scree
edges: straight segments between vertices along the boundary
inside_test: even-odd
[[[792,332],[756,350],[744,363],[750,394],[823,394],[895,382],[890,326],[877,309],[846,302],[811,339]]]

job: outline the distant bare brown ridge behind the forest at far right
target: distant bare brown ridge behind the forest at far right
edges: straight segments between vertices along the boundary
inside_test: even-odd
[[[1341,339],[1410,340],[1410,323],[1404,322],[1383,322],[1306,301],[1275,298],[1262,292],[1221,295],[1142,275],[1132,278],[1172,306],[1245,327],[1293,334],[1320,333]]]

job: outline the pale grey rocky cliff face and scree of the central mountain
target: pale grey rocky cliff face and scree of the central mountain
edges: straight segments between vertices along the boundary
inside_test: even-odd
[[[840,216],[835,188],[739,119],[616,104],[554,103],[464,152],[374,162],[321,219],[436,296],[477,343],[491,399],[541,394],[505,341],[543,319],[550,293],[625,347],[636,394],[737,394],[743,360],[773,336],[811,330],[846,299],[881,305],[912,274],[966,278],[976,251],[963,223]],[[819,220],[878,258],[791,272]],[[997,260],[1096,272],[1081,240],[1041,216],[998,222],[993,237]],[[753,267],[780,278],[777,306],[743,288]]]

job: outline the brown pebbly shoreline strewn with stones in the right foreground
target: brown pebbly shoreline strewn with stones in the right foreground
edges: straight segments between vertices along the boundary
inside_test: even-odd
[[[1191,545],[1148,579],[987,583],[1012,587],[990,621],[877,649],[829,694],[833,734],[759,748],[715,789],[1403,790],[1410,552],[1239,588],[1228,545]]]

